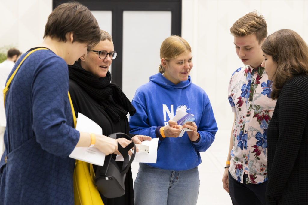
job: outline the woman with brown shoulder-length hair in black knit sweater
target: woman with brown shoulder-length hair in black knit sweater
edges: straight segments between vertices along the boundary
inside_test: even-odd
[[[276,107],[267,130],[267,204],[308,204],[308,47],[282,29],[262,44]]]

